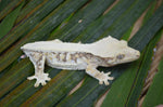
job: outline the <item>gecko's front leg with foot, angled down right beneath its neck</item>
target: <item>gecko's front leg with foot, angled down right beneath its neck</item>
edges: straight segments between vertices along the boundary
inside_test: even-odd
[[[97,80],[99,80],[99,84],[104,84],[109,85],[109,81],[108,80],[113,80],[113,77],[109,77],[109,75],[111,73],[110,71],[104,73],[103,71],[99,71],[97,69],[97,65],[93,64],[88,64],[86,72],[88,75],[90,75],[91,77],[96,78]]]

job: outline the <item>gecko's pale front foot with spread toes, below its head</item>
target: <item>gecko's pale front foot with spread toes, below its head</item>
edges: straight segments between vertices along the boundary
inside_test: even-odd
[[[108,80],[113,80],[114,78],[113,77],[109,77],[109,75],[111,75],[111,72],[106,72],[104,73],[103,71],[100,72],[100,75],[98,76],[98,80],[99,80],[99,84],[104,84],[105,85],[109,85],[109,81]]]

